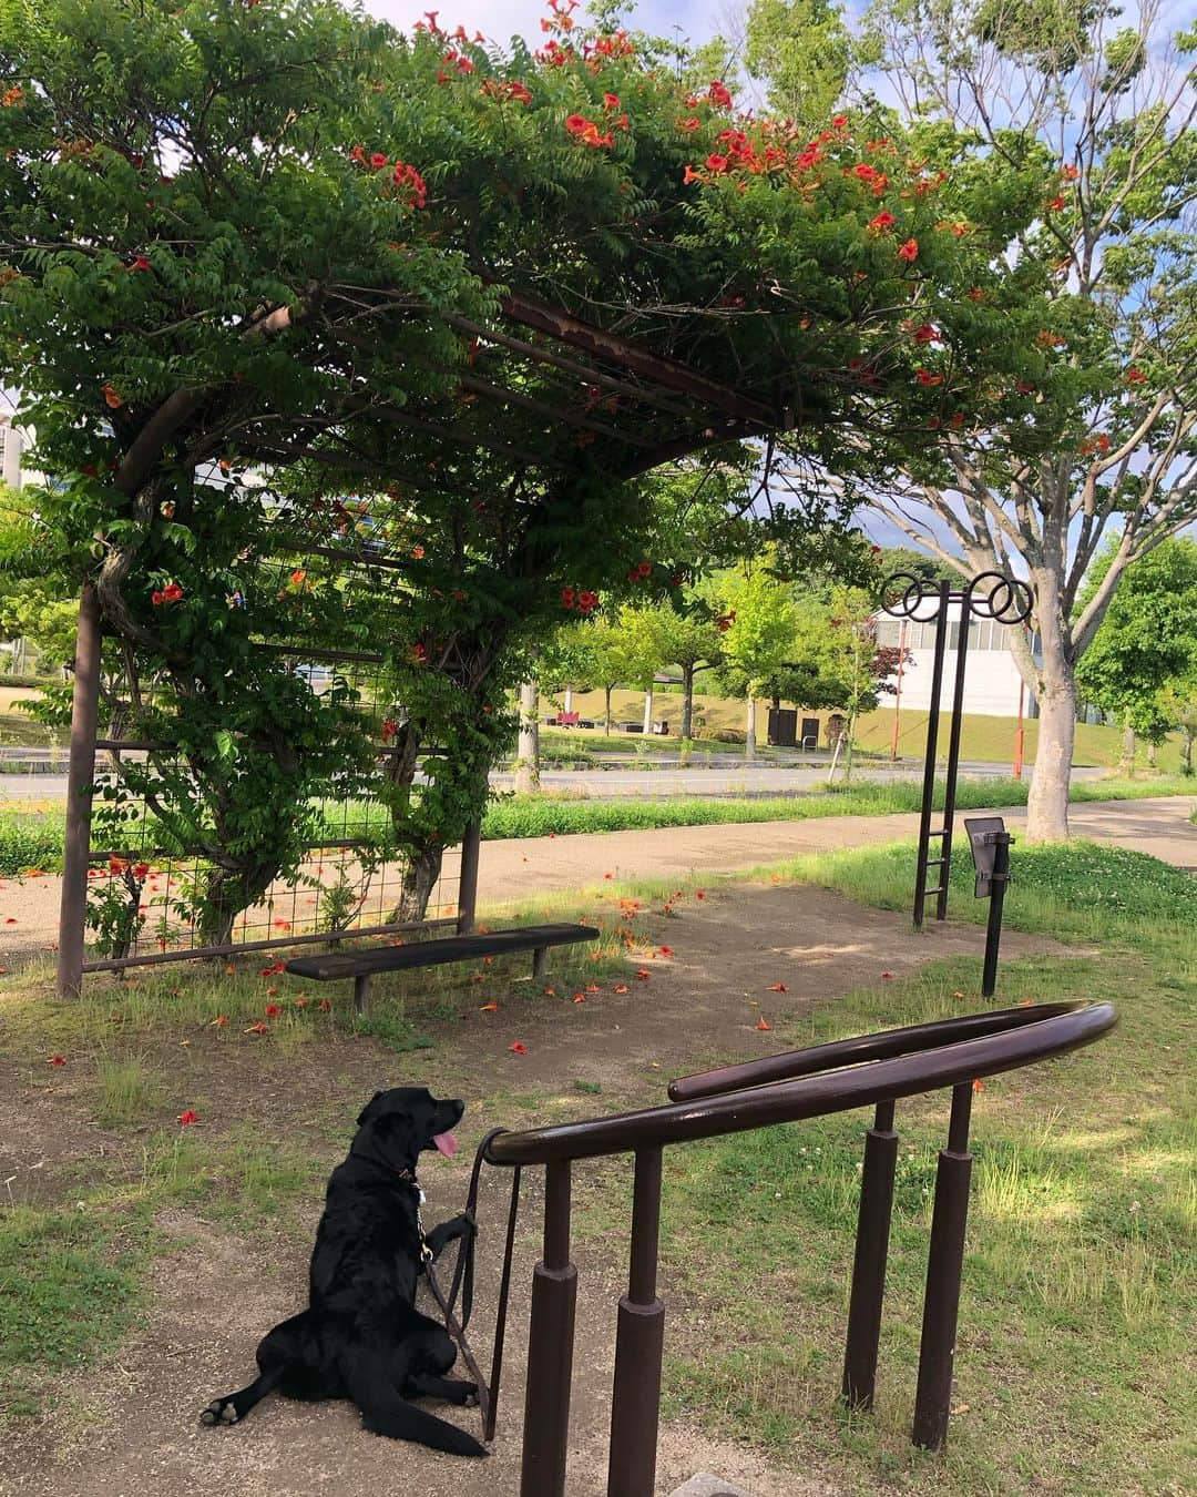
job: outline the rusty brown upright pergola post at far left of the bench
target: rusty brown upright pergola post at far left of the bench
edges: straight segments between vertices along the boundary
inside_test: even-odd
[[[84,982],[87,859],[91,852],[91,783],[96,778],[99,707],[100,600],[94,584],[84,582],[75,633],[75,692],[70,704],[70,760],[66,772],[63,892],[58,906],[60,998],[78,998]]]

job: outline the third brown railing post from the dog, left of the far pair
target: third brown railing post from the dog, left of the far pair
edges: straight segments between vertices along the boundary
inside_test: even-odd
[[[898,1135],[893,1103],[878,1102],[865,1135],[860,1175],[860,1213],[856,1223],[856,1259],[851,1269],[848,1334],[844,1344],[844,1398],[850,1409],[872,1409],[877,1385],[877,1347],[881,1340],[881,1305],[886,1298],[889,1225],[893,1213],[893,1171]]]

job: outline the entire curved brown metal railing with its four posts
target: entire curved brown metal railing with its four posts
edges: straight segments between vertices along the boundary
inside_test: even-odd
[[[947,1436],[968,1184],[973,1082],[1062,1055],[1118,1022],[1109,1003],[1047,1003],[917,1024],[790,1051],[672,1082],[667,1106],[498,1133],[486,1159],[545,1166],[543,1257],[533,1272],[521,1497],[564,1497],[578,1269],[570,1259],[570,1166],[634,1156],[627,1293],[619,1299],[607,1497],[652,1497],[664,1305],[657,1298],[661,1151],[670,1144],[875,1106],[865,1163],[844,1356],[844,1397],[872,1404],[898,1135],[895,1103],[952,1088],[931,1225],[913,1439]]]

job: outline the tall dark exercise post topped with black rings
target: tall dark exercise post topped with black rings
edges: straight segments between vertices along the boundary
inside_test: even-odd
[[[950,582],[929,582],[913,572],[895,572],[886,578],[881,606],[892,618],[908,618],[916,624],[935,626],[931,665],[931,710],[926,719],[926,756],[923,762],[923,805],[919,816],[919,858],[914,871],[914,928],[923,928],[923,912],[929,898],[935,900],[935,919],[947,916],[947,889],[952,877],[952,831],[956,817],[956,775],[961,763],[961,726],[964,719],[964,672],[968,659],[968,635],[973,620],[992,618],[998,624],[1022,624],[1031,617],[1035,594],[1017,578],[1001,572],[982,572],[959,593]],[[953,605],[959,621],[949,621]],[[935,802],[935,750],[940,738],[940,696],[944,684],[944,656],[950,629],[958,630],[955,644],[956,671],[952,683],[952,732],[947,741],[944,772],[944,820],[932,828]],[[931,856],[931,843],[938,840],[940,856]],[[928,888],[928,870],[938,870],[935,888]]]

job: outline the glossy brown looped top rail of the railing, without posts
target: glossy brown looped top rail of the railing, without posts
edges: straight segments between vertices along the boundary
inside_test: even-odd
[[[929,1051],[920,1046],[916,1055],[898,1049],[889,1051],[893,1058],[880,1060],[868,1052],[869,1042],[874,1051],[884,1052],[884,1042],[890,1034],[902,1037],[910,1034],[908,1030],[893,1030],[878,1036],[841,1040],[836,1045],[820,1045],[814,1052],[793,1051],[772,1060],[727,1067],[724,1072],[682,1078],[673,1082],[670,1094],[685,1096],[687,1100],[670,1106],[621,1112],[615,1117],[590,1118],[585,1123],[558,1123],[554,1127],[530,1129],[522,1133],[498,1133],[491,1141],[486,1159],[491,1165],[507,1166],[597,1159],[603,1154],[634,1153],[639,1148],[660,1148],[699,1138],[745,1133],[772,1123],[795,1123],[799,1118],[847,1112],[851,1108],[917,1096],[920,1091],[937,1091],[941,1087],[955,1087],[979,1076],[992,1076],[1067,1054],[1080,1045],[1091,1045],[1113,1028],[1118,1013],[1112,1003],[1053,1003],[974,1015],[971,1019],[947,1019],[943,1025],[929,1024],[916,1028],[950,1031],[965,1028],[970,1022],[983,1027],[986,1021],[995,1019],[1004,1021],[999,1033],[940,1043]],[[817,1076],[798,1069],[800,1057],[809,1054],[818,1057],[812,1067],[815,1070],[824,1070],[829,1064],[844,1064],[845,1061],[829,1058],[827,1052],[845,1052],[851,1046],[859,1046],[863,1052],[857,1054],[856,1060],[868,1064]],[[798,1079],[759,1076],[732,1091],[714,1081],[706,1091],[678,1090],[735,1070],[751,1075],[778,1063],[790,1067],[784,1069],[783,1075]],[[772,1084],[762,1085],[765,1081]],[[690,1099],[699,1105],[691,1105]]]

